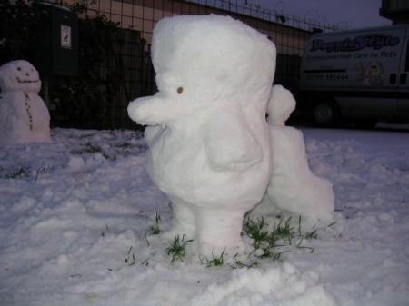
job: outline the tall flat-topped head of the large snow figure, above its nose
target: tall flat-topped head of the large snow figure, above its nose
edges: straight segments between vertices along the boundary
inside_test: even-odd
[[[158,94],[187,108],[244,100],[257,103],[249,97],[260,91],[268,100],[275,55],[267,36],[229,16],[173,16],[154,29]]]

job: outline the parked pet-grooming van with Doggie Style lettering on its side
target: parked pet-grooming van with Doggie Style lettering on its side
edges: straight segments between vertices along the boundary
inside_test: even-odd
[[[301,111],[330,124],[409,122],[409,25],[312,35],[300,75]]]

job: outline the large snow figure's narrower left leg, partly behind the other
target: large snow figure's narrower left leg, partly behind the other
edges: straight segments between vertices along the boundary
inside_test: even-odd
[[[174,221],[169,238],[175,238],[175,235],[185,235],[186,238],[195,237],[196,225],[195,214],[185,204],[172,200],[172,209],[174,211]]]

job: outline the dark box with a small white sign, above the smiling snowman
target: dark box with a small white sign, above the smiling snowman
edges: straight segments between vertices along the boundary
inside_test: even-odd
[[[41,15],[35,65],[43,75],[78,74],[78,18],[65,6],[35,3]]]

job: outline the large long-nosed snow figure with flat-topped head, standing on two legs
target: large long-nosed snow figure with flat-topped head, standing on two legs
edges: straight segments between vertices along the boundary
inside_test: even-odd
[[[231,17],[176,16],[155,26],[152,59],[159,92],[128,114],[153,125],[148,171],[173,202],[172,232],[201,252],[240,246],[244,213],[271,175],[274,44]]]

